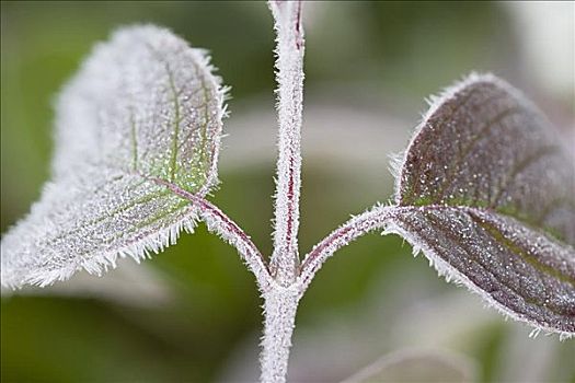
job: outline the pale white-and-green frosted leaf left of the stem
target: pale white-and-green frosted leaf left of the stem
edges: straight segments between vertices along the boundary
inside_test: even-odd
[[[196,208],[156,181],[197,196],[217,184],[225,108],[211,69],[151,25],[95,47],[59,97],[53,179],[2,240],[2,286],[100,274],[193,229]]]

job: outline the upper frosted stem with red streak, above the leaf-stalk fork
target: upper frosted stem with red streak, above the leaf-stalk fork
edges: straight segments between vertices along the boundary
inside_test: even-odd
[[[283,286],[294,282],[299,264],[298,227],[303,102],[303,30],[300,1],[269,1],[277,33],[276,79],[279,124],[271,272]]]

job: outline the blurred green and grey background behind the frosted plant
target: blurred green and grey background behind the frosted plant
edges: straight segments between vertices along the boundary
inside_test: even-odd
[[[389,137],[406,142],[425,109],[424,96],[479,70],[494,71],[525,89],[573,135],[571,37],[538,34],[552,30],[554,22],[529,7],[307,3],[304,116],[318,104],[365,109],[402,121]],[[557,23],[567,13],[567,35],[575,34],[570,10],[573,3],[553,13],[560,19],[563,14]],[[533,14],[547,23],[543,28],[541,21],[532,22]],[[255,126],[258,119],[253,116],[260,111],[273,112],[274,35],[264,2],[2,1],[2,233],[25,216],[49,178],[55,94],[95,42],[131,23],[165,25],[193,46],[210,49],[219,73],[232,86],[227,142],[231,146],[232,138],[242,135],[248,141],[258,140],[250,128],[232,128],[237,118],[252,116]],[[563,71],[545,67],[545,59]],[[550,79],[550,71],[559,80]],[[383,119],[375,120],[370,128],[384,135]],[[363,137],[359,125],[349,129]],[[275,127],[267,128],[273,140]],[[325,161],[330,148],[309,149],[314,150],[327,158],[306,161],[303,153],[302,254],[349,213],[375,200],[386,201],[392,193],[386,162],[373,164],[376,173],[369,166],[350,173],[330,166]],[[231,162],[226,155],[223,148],[223,164]],[[222,165],[222,185],[212,200],[269,254],[273,152],[257,163],[233,161],[240,163]],[[340,161],[355,166],[353,159]],[[115,270],[92,278],[91,283],[107,289],[92,288],[89,295],[70,282],[65,293],[3,297],[2,381],[208,382],[250,381],[257,375],[262,301],[233,248],[200,225],[194,235],[183,235],[176,246],[131,269],[137,275],[139,268],[151,277],[136,277],[131,295],[114,291]],[[138,280],[158,286],[161,293],[137,299]],[[297,322],[294,381],[344,379],[383,353],[409,347],[469,358],[478,382],[575,382],[573,341],[527,339],[528,328],[504,322],[493,310],[484,310],[476,297],[439,279],[425,258],[414,259],[396,236],[366,236],[330,259],[304,297]]]

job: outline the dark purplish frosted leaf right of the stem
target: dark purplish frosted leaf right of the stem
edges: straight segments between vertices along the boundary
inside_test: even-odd
[[[575,333],[575,162],[492,76],[434,102],[399,169],[389,228],[509,316]]]

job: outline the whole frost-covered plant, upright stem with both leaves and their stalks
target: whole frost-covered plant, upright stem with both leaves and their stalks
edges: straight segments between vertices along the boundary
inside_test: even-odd
[[[1,245],[3,286],[49,285],[140,259],[196,220],[234,245],[263,293],[262,381],[285,382],[298,302],[323,262],[372,230],[399,233],[439,274],[515,320],[575,334],[575,161],[537,108],[492,76],[434,100],[396,167],[396,206],[336,229],[299,266],[303,31],[271,1],[278,163],[269,271],[205,199],[217,184],[225,90],[205,53],[139,26],[100,45],[60,96],[53,181]]]

